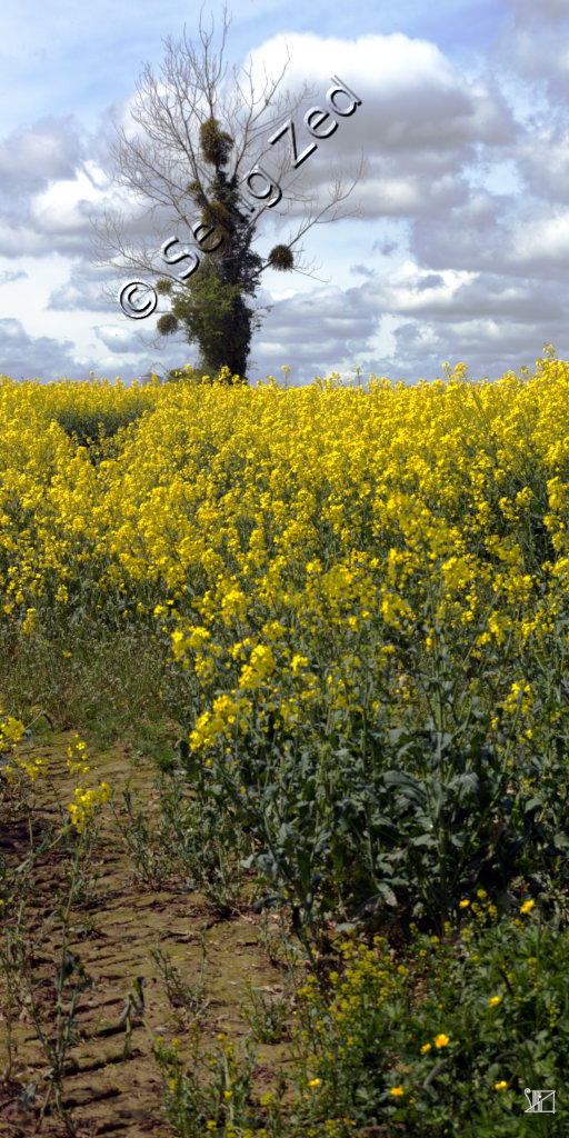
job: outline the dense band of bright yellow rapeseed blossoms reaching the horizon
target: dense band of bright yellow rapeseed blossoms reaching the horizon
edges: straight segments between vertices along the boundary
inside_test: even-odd
[[[521,655],[569,564],[569,366],[550,349],[525,382],[464,372],[369,391],[335,377],[289,390],[2,378],[3,620],[31,635],[88,595],[158,618],[197,681],[197,750],[247,731],[254,706],[286,731],[322,701],[372,712],[373,677],[422,616],[424,654],[440,624],[455,660],[511,641],[504,707],[521,691],[529,717]],[[146,413],[93,465],[59,426],[69,405]],[[544,538],[556,556],[538,563]]]

